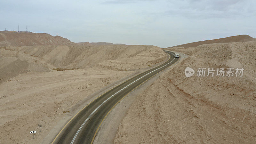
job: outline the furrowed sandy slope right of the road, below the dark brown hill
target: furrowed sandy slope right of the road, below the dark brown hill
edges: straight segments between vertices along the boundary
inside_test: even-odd
[[[256,42],[204,44],[138,95],[115,143],[256,143]],[[185,68],[244,68],[187,78]]]

